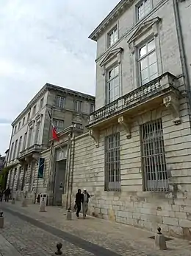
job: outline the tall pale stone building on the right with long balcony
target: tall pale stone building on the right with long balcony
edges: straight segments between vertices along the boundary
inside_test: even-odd
[[[90,214],[184,238],[191,238],[190,13],[190,0],[122,0],[92,32],[95,112],[89,133],[75,138],[71,173],[72,196],[83,187],[93,195]]]

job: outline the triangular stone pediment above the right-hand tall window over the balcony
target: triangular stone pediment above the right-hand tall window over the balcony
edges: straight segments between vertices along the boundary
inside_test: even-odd
[[[140,24],[137,30],[134,31],[134,33],[131,35],[131,37],[127,42],[131,44],[137,38],[140,38],[140,36],[145,34],[145,32],[147,32],[148,30],[151,30],[154,24],[159,24],[160,21],[161,21],[161,18],[156,17],[156,18],[152,18],[151,20],[143,22],[142,24]],[[157,33],[157,31],[155,30],[154,33]]]

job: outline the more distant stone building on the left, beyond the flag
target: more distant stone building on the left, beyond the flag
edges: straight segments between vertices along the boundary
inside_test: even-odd
[[[49,170],[49,165],[40,155],[50,146],[49,114],[58,134],[70,125],[82,133],[86,131],[85,126],[94,107],[93,96],[48,83],[43,86],[12,122],[7,156],[7,167],[10,168],[7,186],[13,193],[25,191],[35,200],[34,195],[44,192],[46,184],[42,177],[44,171]]]

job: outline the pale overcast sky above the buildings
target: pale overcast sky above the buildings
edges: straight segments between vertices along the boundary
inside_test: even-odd
[[[119,0],[1,0],[0,153],[11,122],[45,83],[95,94],[88,35]]]

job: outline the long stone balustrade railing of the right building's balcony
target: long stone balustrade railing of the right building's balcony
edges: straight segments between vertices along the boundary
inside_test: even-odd
[[[118,98],[118,100],[115,100],[90,114],[90,121],[87,127],[90,127],[97,122],[107,120],[123,111],[134,108],[136,105],[140,105],[152,98],[158,97],[160,94],[165,94],[172,89],[179,91],[176,86],[176,80],[177,78],[174,75],[167,72],[151,82],[146,83],[144,86],[138,87],[134,91],[129,92]]]

